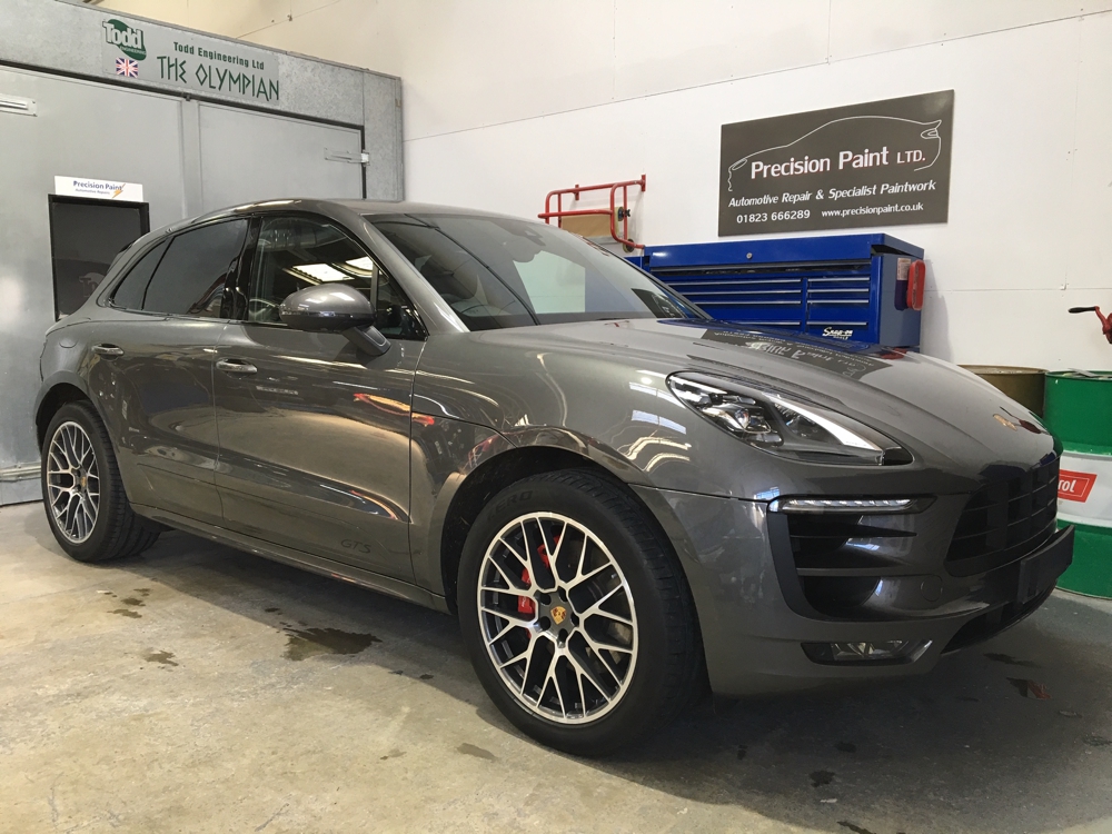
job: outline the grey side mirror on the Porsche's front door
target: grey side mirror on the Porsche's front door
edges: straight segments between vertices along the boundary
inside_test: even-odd
[[[342,334],[371,356],[390,349],[389,340],[375,329],[375,306],[345,284],[318,284],[291,292],[278,308],[278,316],[295,330]]]

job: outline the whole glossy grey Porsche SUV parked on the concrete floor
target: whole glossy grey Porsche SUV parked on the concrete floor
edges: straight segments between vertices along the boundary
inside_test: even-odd
[[[525,733],[931,669],[1072,557],[1039,419],[913,353],[708,318],[559,229],[275,200],[139,239],[47,334],[47,518],[456,614]]]

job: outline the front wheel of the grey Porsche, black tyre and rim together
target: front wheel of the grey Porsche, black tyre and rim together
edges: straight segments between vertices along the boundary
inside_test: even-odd
[[[550,747],[605,755],[702,692],[695,607],[672,546],[627,489],[594,473],[537,475],[496,495],[464,544],[457,599],[484,688]]]

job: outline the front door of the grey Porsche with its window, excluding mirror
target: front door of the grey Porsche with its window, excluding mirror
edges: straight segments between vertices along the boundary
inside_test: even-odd
[[[325,281],[377,287],[386,354],[281,324],[287,295]],[[262,219],[246,295],[216,361],[226,524],[411,580],[409,413],[424,341],[408,304],[351,236],[304,216]]]

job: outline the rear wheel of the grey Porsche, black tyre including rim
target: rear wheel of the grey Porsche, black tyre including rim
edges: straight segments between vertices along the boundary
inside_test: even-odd
[[[50,420],[41,478],[50,530],[78,562],[136,556],[162,529],[131,508],[108,430],[88,403],[67,403]]]

